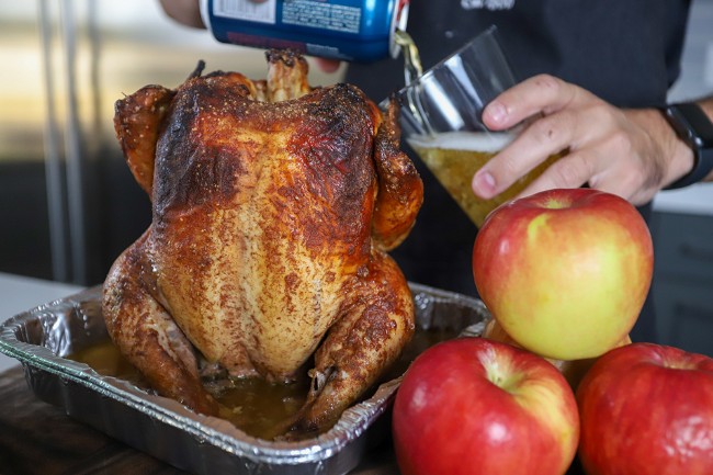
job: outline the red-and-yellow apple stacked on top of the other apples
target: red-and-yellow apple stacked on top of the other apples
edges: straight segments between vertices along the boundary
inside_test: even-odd
[[[475,284],[495,319],[522,347],[556,360],[597,358],[624,340],[653,271],[641,214],[591,189],[501,205],[473,249]]]

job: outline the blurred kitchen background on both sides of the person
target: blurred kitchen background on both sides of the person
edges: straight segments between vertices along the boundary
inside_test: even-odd
[[[671,100],[713,91],[713,0],[694,0],[690,22]],[[158,1],[0,0],[0,272],[104,280],[150,222],[114,137],[114,101],[148,83],[176,87],[199,59],[252,78],[267,70],[263,52],[179,25]],[[313,66],[310,82],[342,73]],[[659,330],[711,354],[713,184],[660,193],[655,210]]]

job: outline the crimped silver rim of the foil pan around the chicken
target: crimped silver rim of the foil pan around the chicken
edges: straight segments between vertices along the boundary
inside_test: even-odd
[[[409,286],[417,306],[428,306],[441,299],[444,302],[457,299],[465,302],[469,307],[475,307],[478,313],[487,315],[487,309],[477,298],[417,283],[409,283]],[[283,442],[253,438],[226,420],[196,415],[173,399],[144,391],[121,378],[100,375],[84,363],[61,358],[54,354],[49,348],[19,339],[30,320],[45,316],[47,318],[41,318],[42,325],[50,326],[53,319],[49,317],[60,309],[61,312],[78,310],[87,302],[101,299],[101,285],[88,287],[68,297],[38,305],[10,317],[0,325],[0,352],[20,360],[25,366],[25,373],[36,369],[58,376],[63,381],[69,380],[144,415],[160,419],[196,440],[254,463],[295,465],[326,462],[360,439],[386,411],[401,381],[401,377],[396,377],[383,383],[371,397],[347,409],[329,431],[313,439]]]

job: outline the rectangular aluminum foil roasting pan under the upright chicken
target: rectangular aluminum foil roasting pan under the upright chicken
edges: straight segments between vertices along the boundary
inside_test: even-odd
[[[489,315],[480,301],[420,284],[410,286],[419,329],[464,330],[476,336],[483,331]],[[38,398],[196,474],[344,474],[383,436],[384,426],[377,422],[400,383],[396,377],[380,385],[373,395],[346,410],[332,429],[314,439],[265,441],[66,358],[107,338],[101,286],[95,286],[4,321],[0,352],[22,362],[27,384]]]

